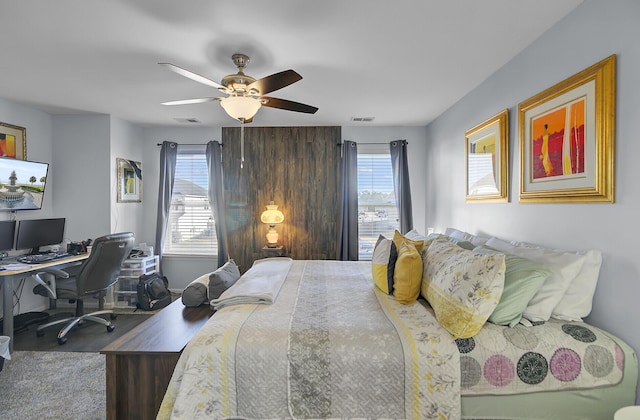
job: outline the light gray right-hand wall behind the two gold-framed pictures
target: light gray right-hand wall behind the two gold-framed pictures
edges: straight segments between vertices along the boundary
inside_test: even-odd
[[[426,224],[564,249],[599,249],[603,264],[588,321],[640,351],[640,2],[587,0],[427,127]],[[499,47],[499,46],[496,46]],[[615,204],[520,204],[517,106],[618,55]],[[465,203],[464,133],[509,108],[509,203]],[[638,400],[638,398],[637,398]]]

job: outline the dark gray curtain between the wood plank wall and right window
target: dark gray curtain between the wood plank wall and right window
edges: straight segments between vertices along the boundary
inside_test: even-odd
[[[342,143],[340,160],[340,214],[338,255],[341,261],[358,260],[358,146]]]

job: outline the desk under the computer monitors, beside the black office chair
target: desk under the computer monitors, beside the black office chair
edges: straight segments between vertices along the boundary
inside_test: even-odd
[[[89,254],[72,255],[57,260],[47,261],[41,264],[25,265],[24,268],[18,270],[3,270],[0,271],[0,282],[2,282],[2,310],[3,310],[3,331],[2,335],[8,336],[9,350],[13,350],[13,283],[15,280],[20,280],[23,277],[29,277],[32,273],[36,273],[43,268],[58,268],[64,269],[66,267],[80,264],[83,260],[86,260]],[[4,260],[4,263],[14,263],[15,261]],[[16,263],[17,264],[17,263]]]

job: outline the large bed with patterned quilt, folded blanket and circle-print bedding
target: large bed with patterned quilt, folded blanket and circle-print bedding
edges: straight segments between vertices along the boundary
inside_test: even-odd
[[[396,248],[398,264],[417,263]],[[477,313],[443,314],[425,286],[436,248],[418,252],[409,302],[376,282],[375,258],[256,261],[211,301],[217,312],[183,351],[158,418],[602,419],[634,404],[636,354],[605,331],[551,318],[470,332]],[[504,289],[503,254],[468,252],[498,262]],[[478,291],[473,309],[491,311],[497,289]]]

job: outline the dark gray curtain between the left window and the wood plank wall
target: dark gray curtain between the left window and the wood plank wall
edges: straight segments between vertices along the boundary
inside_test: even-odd
[[[222,145],[217,141],[207,143],[207,168],[209,169],[209,203],[216,223],[218,238],[218,267],[229,260],[229,243],[224,212],[224,180],[222,178]]]

